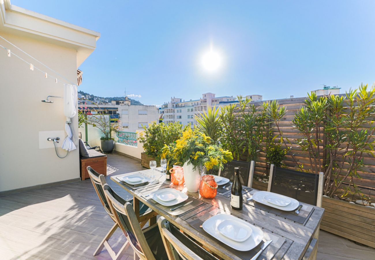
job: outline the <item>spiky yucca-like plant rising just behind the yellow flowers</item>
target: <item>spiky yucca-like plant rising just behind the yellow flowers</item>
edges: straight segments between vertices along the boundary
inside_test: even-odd
[[[203,114],[201,113],[199,116],[196,115],[194,117],[198,123],[198,129],[215,142],[219,141],[222,132],[222,122],[217,116],[218,113],[219,108],[207,107],[207,113],[203,111]]]

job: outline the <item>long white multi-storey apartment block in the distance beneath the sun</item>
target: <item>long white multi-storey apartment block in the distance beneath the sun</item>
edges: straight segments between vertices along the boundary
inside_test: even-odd
[[[261,95],[251,95],[252,101],[261,101]],[[236,98],[233,96],[215,97],[213,93],[204,93],[202,97],[197,100],[182,100],[181,98],[171,97],[171,101],[164,103],[159,108],[159,118],[163,120],[164,123],[168,124],[170,122],[180,122],[183,125],[193,125],[196,124],[194,115],[207,112],[207,107],[222,107],[227,106],[231,103],[237,103]]]

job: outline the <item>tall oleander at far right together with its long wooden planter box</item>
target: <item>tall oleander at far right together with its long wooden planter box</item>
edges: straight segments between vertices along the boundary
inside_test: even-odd
[[[324,172],[326,213],[321,228],[372,247],[375,208],[370,205],[374,201],[356,182],[369,172],[366,162],[375,157],[374,103],[374,86],[361,85],[344,96],[312,93],[293,119],[302,133],[297,143],[309,155],[305,169]]]

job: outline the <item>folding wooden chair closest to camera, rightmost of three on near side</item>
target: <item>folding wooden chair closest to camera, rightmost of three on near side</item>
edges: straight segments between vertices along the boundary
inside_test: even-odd
[[[164,217],[157,220],[169,260],[210,260],[218,259],[199,246]]]

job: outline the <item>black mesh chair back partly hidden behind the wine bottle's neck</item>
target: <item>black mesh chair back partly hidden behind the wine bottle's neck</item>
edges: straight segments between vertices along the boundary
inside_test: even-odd
[[[254,161],[244,162],[233,160],[231,162],[225,163],[224,168],[219,170],[219,176],[228,178],[233,182],[234,180],[234,168],[239,167],[240,181],[244,186],[251,187],[253,183],[254,175]]]

